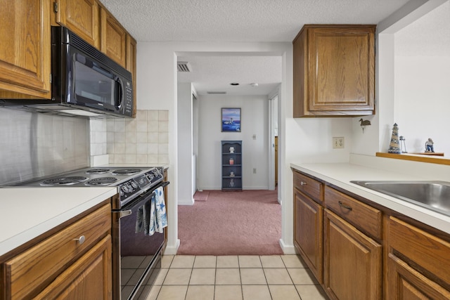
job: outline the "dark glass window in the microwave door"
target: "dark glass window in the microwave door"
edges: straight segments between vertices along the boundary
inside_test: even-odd
[[[75,94],[84,103],[113,109],[120,105],[120,83],[113,74],[77,53],[75,59]]]

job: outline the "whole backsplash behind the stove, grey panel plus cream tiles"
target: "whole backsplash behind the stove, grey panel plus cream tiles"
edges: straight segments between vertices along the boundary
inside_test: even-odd
[[[0,107],[0,185],[89,167],[94,157],[168,164],[168,116],[138,110],[136,119],[86,119]]]

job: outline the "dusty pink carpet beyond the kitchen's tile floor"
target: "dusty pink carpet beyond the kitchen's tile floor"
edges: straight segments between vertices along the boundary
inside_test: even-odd
[[[178,207],[178,254],[283,254],[281,205],[276,190],[221,192],[210,190],[208,200]]]

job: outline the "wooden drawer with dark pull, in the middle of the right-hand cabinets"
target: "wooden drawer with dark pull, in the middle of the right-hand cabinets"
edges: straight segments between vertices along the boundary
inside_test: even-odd
[[[382,212],[338,190],[325,187],[325,204],[343,219],[372,237],[381,239]]]

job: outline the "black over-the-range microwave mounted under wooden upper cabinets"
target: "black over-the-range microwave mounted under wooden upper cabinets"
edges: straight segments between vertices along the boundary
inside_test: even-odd
[[[66,27],[51,27],[51,99],[0,106],[59,115],[131,117],[131,73]]]

